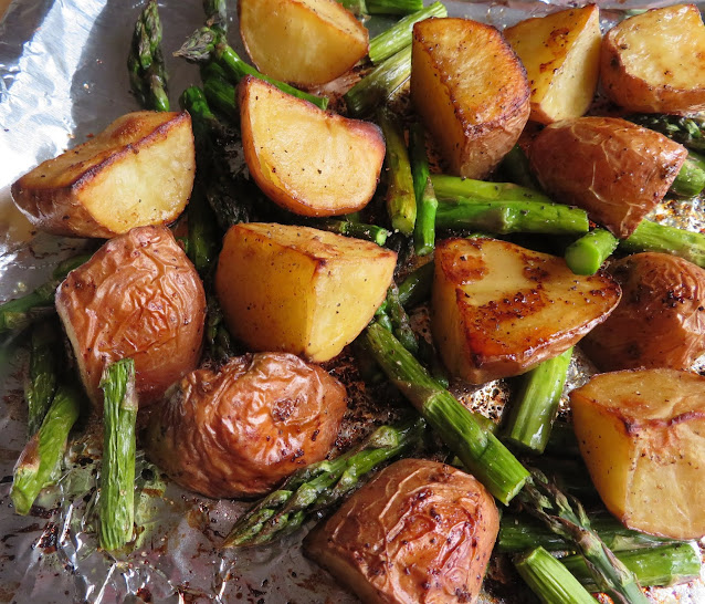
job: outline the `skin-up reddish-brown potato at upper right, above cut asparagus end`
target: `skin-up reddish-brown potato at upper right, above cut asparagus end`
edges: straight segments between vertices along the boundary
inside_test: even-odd
[[[579,117],[544,128],[529,148],[532,169],[561,204],[620,238],[659,204],[687,157],[662,134],[615,117]]]

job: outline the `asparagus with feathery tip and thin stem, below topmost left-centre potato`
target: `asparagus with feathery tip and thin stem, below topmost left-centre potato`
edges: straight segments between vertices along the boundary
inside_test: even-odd
[[[294,86],[260,73],[252,65],[240,59],[238,53],[228,44],[222,32],[208,25],[194,31],[173,55],[182,56],[193,63],[215,61],[234,83],[240,82],[245,75],[252,75],[269,82],[286,94],[308,101],[322,110],[328,106],[327,96],[316,96],[302,92]]]

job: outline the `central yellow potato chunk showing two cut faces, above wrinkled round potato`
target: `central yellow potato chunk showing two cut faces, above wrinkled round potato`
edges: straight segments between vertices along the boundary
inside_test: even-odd
[[[250,350],[324,362],[365,329],[387,295],[397,254],[307,227],[230,228],[215,293],[231,333]]]

